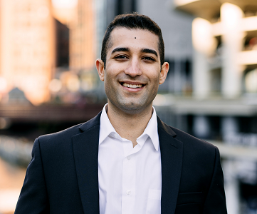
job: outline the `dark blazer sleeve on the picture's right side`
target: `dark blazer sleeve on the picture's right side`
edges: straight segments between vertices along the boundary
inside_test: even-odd
[[[204,214],[226,214],[226,197],[224,191],[224,177],[221,168],[219,149],[216,148],[214,173],[209,191],[204,203]]]

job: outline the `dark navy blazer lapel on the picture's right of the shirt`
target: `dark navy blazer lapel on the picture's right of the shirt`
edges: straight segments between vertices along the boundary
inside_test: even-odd
[[[174,138],[176,133],[169,126],[159,118],[157,121],[162,161],[161,210],[162,214],[174,214],[182,173],[183,143]]]

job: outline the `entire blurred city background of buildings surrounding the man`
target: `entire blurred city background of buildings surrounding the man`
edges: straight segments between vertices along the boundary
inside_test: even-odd
[[[14,213],[37,136],[107,102],[95,59],[117,14],[162,29],[170,70],[154,106],[218,146],[229,214],[257,213],[256,0],[0,0],[0,213]]]

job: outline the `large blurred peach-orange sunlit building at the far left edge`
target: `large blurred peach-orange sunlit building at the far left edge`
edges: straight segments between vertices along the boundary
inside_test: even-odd
[[[20,88],[33,104],[48,101],[55,67],[51,0],[1,0],[1,91]]]

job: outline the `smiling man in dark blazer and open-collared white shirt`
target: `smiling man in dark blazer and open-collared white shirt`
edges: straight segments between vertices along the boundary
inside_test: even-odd
[[[159,26],[117,16],[96,61],[102,113],[36,139],[18,213],[226,213],[219,150],[162,123],[152,101],[165,81]]]

